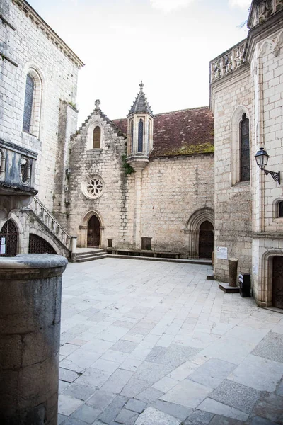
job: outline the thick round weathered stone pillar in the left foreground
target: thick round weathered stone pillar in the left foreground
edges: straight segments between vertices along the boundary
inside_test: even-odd
[[[57,425],[62,273],[67,259],[0,260],[0,423]]]

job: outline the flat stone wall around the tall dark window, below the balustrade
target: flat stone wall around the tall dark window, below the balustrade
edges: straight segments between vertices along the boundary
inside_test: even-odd
[[[238,140],[243,113],[250,119],[253,140],[253,108],[250,67],[241,67],[212,84],[215,130],[215,246],[227,247],[236,257],[238,271],[251,273],[252,191],[250,182],[239,182]],[[250,164],[254,161],[250,154]],[[215,256],[215,277],[228,281],[228,260]]]

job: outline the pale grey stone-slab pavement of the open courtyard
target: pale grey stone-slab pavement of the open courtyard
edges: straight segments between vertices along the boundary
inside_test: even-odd
[[[283,315],[224,294],[206,273],[69,264],[59,424],[283,424]]]

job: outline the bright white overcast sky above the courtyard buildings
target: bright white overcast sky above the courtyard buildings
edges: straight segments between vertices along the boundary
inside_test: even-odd
[[[144,81],[154,113],[209,104],[209,60],[246,38],[251,0],[28,0],[86,64],[79,124],[99,98],[124,118]]]

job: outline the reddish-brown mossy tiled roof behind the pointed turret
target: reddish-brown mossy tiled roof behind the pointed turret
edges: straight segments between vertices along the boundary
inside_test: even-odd
[[[113,120],[127,135],[127,119]],[[208,106],[154,115],[151,157],[214,152],[214,117]]]

